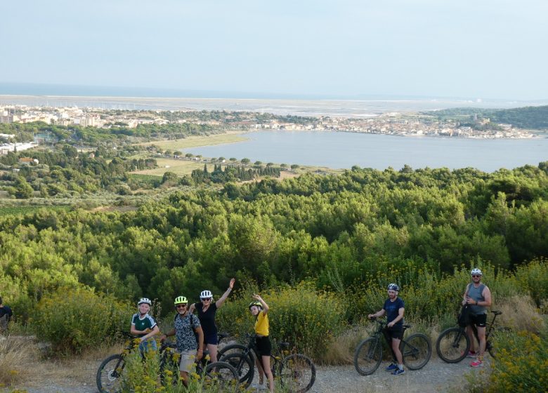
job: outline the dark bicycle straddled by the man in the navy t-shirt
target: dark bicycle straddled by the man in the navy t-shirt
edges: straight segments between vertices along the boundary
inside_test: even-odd
[[[374,373],[382,360],[382,342],[383,330],[386,326],[385,321],[377,320],[379,327],[370,338],[366,338],[354,352],[354,367],[361,375],[370,375]],[[403,325],[403,331],[410,328],[411,325]],[[386,340],[386,338],[385,338]],[[391,347],[390,342],[386,343]],[[400,351],[403,357],[403,364],[410,370],[419,370],[426,366],[432,354],[430,340],[423,333],[414,333],[400,342]]]

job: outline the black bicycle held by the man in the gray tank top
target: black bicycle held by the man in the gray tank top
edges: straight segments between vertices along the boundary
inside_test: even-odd
[[[495,330],[495,319],[498,315],[502,314],[500,311],[491,311],[493,314],[492,320],[488,323],[488,328],[485,329],[485,349],[489,352],[491,357],[496,357],[495,347],[492,345],[492,341],[489,338],[492,336]],[[478,330],[474,324],[471,325],[474,330],[476,340],[478,339]],[[505,329],[505,328],[502,328]],[[436,340],[436,352],[438,357],[445,363],[458,363],[462,361],[470,350],[470,338],[467,335],[466,326],[455,326],[447,328],[441,332]]]

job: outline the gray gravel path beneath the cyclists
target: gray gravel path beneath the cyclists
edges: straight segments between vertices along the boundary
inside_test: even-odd
[[[95,373],[100,361],[86,362],[86,372],[77,373],[71,378],[60,372],[60,365],[45,365],[43,378],[34,379],[17,386],[28,393],[97,393]],[[422,370],[406,371],[394,376],[384,371],[381,364],[372,375],[362,376],[353,366],[318,366],[316,381],[311,393],[437,393],[445,392],[448,387],[459,386],[464,373],[477,372],[469,366],[469,359],[459,364],[446,364],[433,358]],[[51,373],[48,373],[50,368]],[[487,368],[487,366],[485,367]],[[9,392],[1,390],[0,392]]]

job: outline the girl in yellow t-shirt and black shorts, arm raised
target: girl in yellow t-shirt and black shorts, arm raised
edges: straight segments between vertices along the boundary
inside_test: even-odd
[[[259,295],[253,295],[254,302],[249,304],[249,311],[256,317],[255,319],[255,334],[256,334],[256,349],[261,356],[261,362],[257,359],[257,368],[259,369],[259,385],[263,384],[263,376],[266,374],[268,378],[268,387],[270,393],[274,393],[274,377],[270,371],[270,354],[272,353],[272,345],[268,338],[268,305]]]

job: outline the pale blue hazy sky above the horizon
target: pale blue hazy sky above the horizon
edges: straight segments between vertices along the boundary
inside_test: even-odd
[[[19,0],[0,82],[548,98],[546,0]]]

